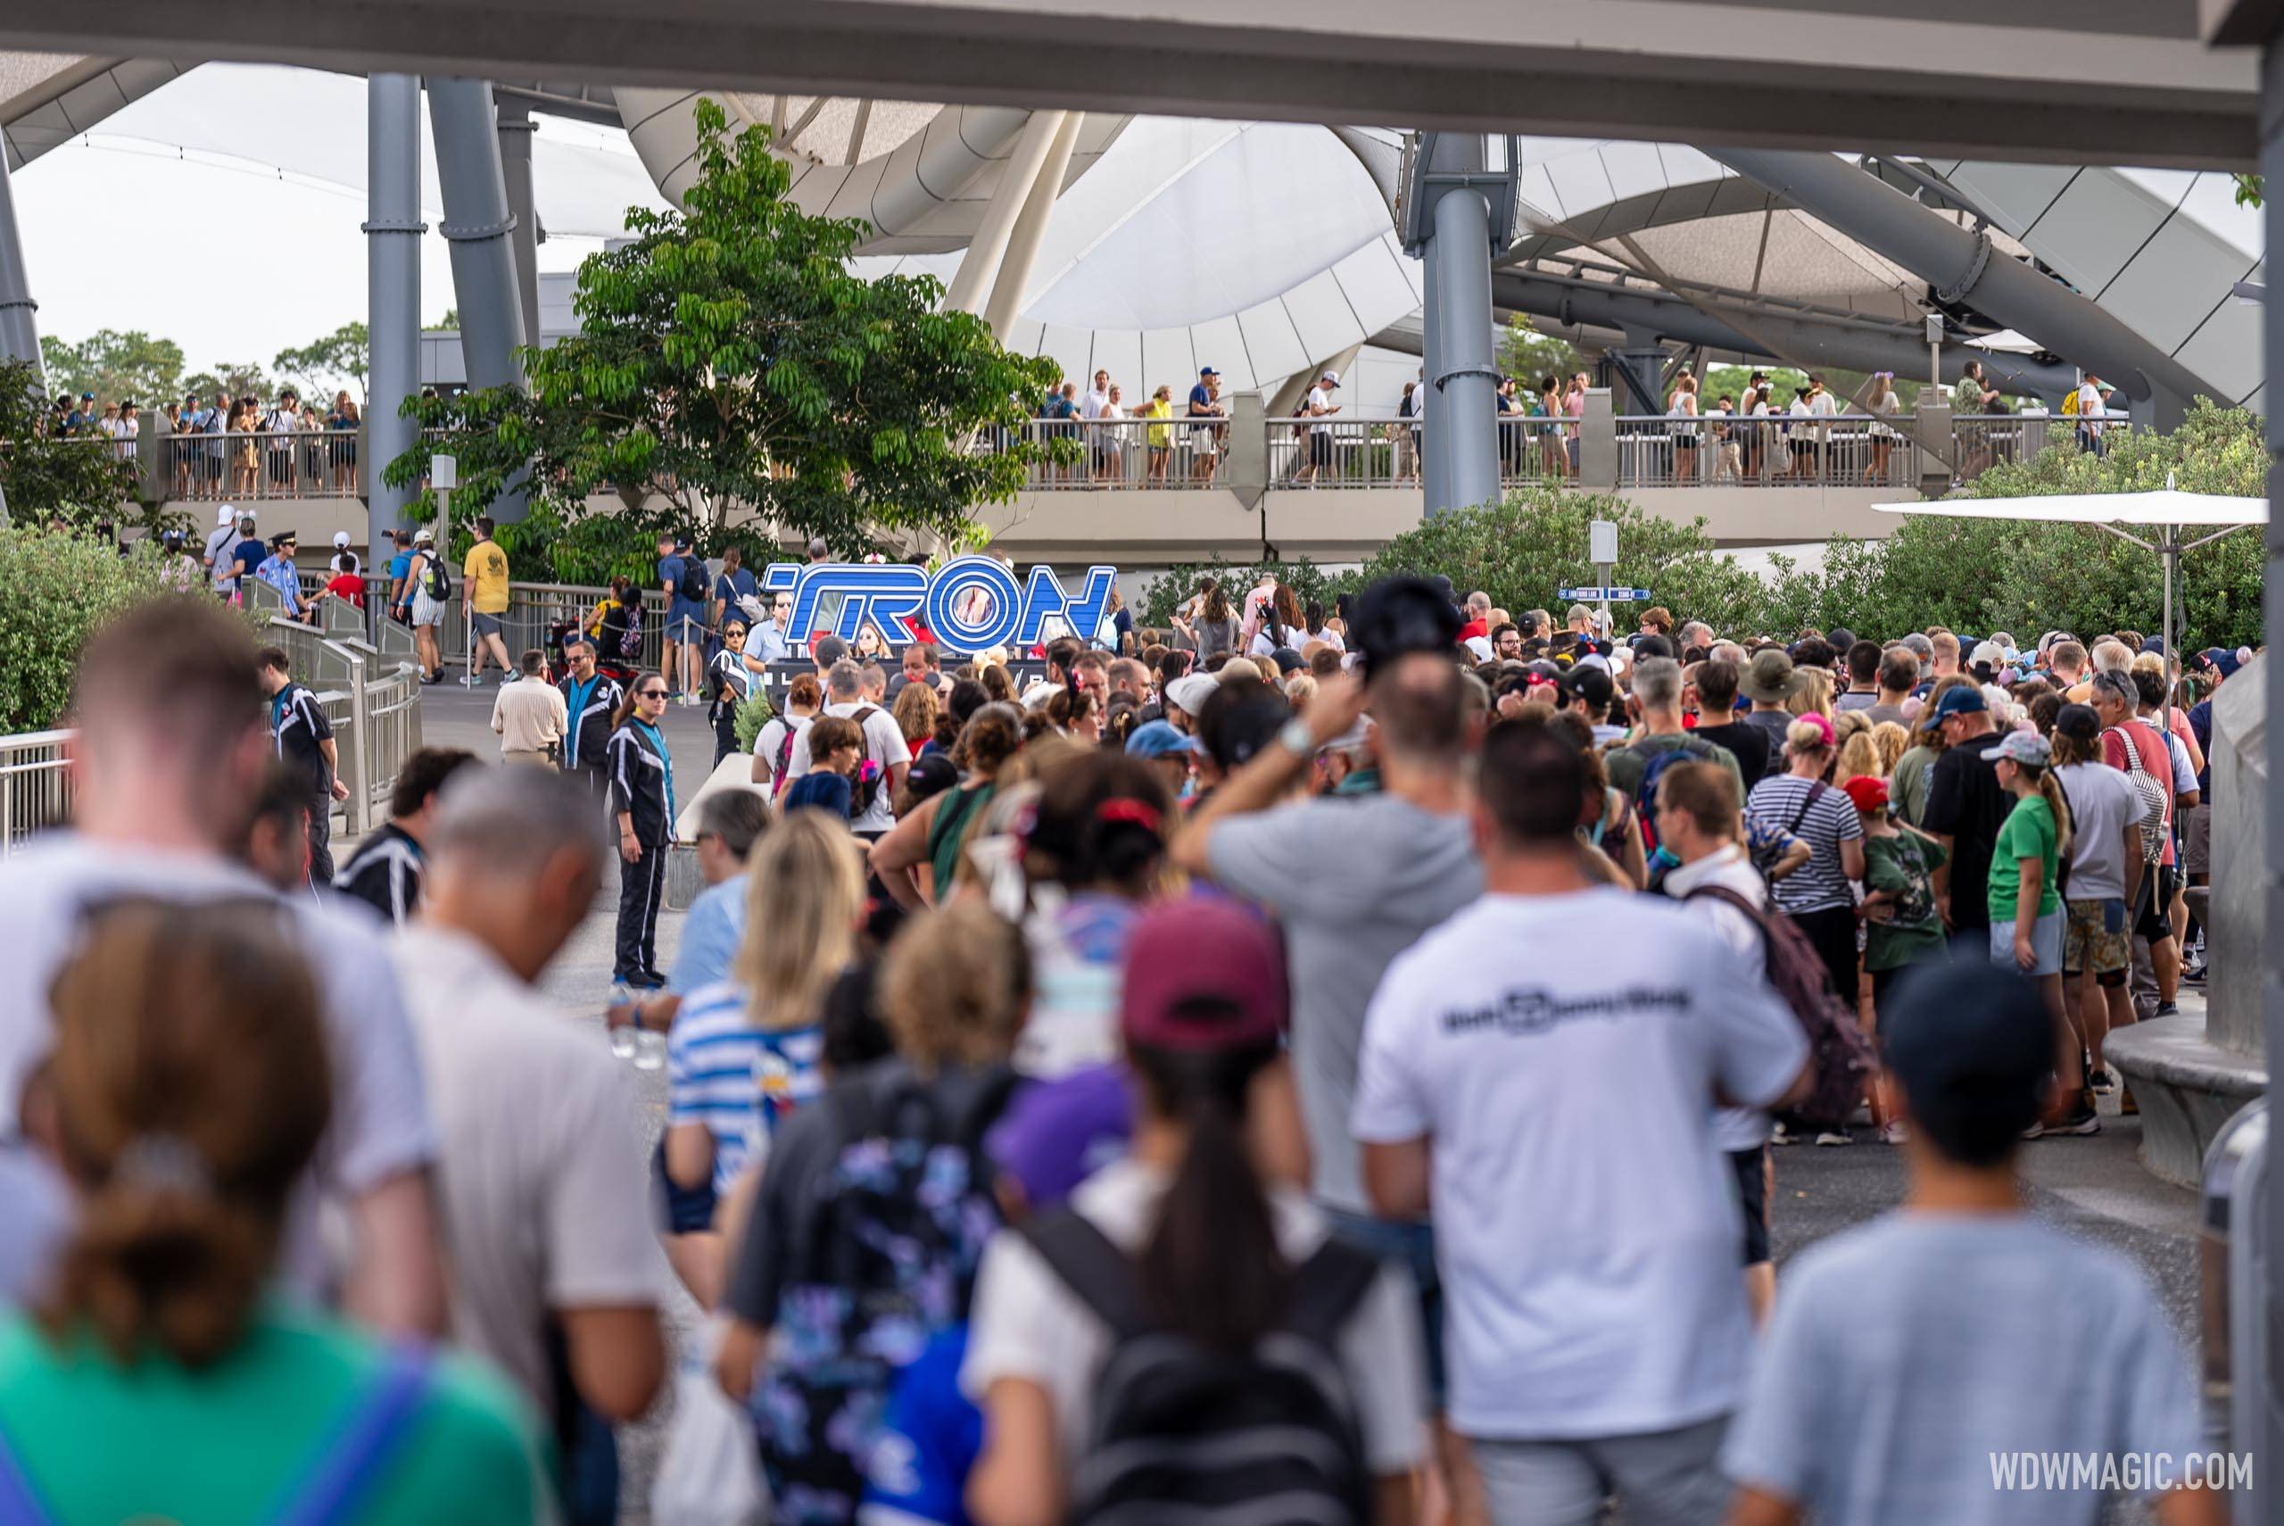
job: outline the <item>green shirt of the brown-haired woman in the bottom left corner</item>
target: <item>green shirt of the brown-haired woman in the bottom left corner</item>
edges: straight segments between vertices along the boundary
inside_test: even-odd
[[[265,1304],[222,1362],[121,1366],[91,1336],[62,1348],[0,1323],[0,1437],[57,1526],[158,1519],[258,1526],[370,1391],[384,1348]],[[500,1378],[439,1357],[420,1416],[345,1526],[523,1526],[539,1494],[532,1421]]]

